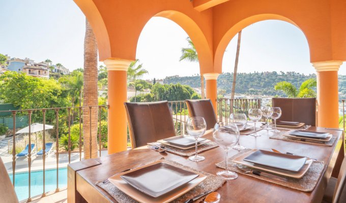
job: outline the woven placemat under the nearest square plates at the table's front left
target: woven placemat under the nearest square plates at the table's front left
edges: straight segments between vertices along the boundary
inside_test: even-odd
[[[161,159],[164,159],[164,158],[161,158]],[[164,159],[164,160],[167,162],[170,162],[172,164],[175,164],[177,166],[183,167],[187,170],[195,171],[197,173],[200,173],[200,174],[207,176],[207,178],[204,181],[199,183],[192,190],[188,191],[187,193],[183,194],[182,196],[178,197],[177,199],[175,199],[171,202],[174,202],[174,203],[185,202],[185,201],[187,201],[187,200],[189,200],[189,199],[191,199],[191,198],[195,197],[196,195],[201,194],[203,192],[215,191],[226,182],[224,179],[219,178],[218,176],[196,170],[195,168],[192,168],[192,167],[189,167],[186,165],[182,165],[182,164],[175,162],[175,161],[172,161],[172,160],[167,160],[167,159]],[[138,202],[138,201],[132,199],[127,194],[125,194],[124,192],[122,192],[116,186],[111,184],[108,181],[108,179],[99,181],[96,183],[96,185],[101,187],[102,189],[104,189],[110,196],[112,196],[114,199],[116,199],[119,203],[136,203],[136,202]],[[200,197],[195,202],[199,202],[204,197],[205,196]]]

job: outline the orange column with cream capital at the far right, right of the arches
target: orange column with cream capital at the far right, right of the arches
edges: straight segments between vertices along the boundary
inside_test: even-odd
[[[313,62],[317,72],[317,126],[339,126],[338,78],[342,61]]]

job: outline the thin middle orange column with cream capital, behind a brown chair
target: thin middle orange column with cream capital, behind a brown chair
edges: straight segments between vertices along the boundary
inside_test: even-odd
[[[218,73],[203,74],[206,79],[206,97],[212,100],[215,114],[217,114],[217,77],[219,75]]]

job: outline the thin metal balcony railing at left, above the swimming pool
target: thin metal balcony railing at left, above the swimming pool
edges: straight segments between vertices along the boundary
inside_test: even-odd
[[[20,153],[22,150],[25,149],[26,146],[31,146],[32,144],[35,145],[35,147],[32,149],[31,147],[27,148],[27,153],[25,154],[26,160],[20,160],[21,167],[23,165],[24,161],[27,161],[27,168],[24,168],[25,171],[28,173],[28,182],[27,182],[27,201],[32,200],[32,161],[33,156],[36,155],[36,158],[38,157],[37,152],[42,149],[42,173],[43,173],[43,190],[41,196],[45,196],[46,191],[46,144],[52,143],[52,148],[55,148],[55,168],[56,168],[56,188],[55,192],[60,191],[61,188],[59,188],[59,168],[60,168],[60,162],[59,162],[59,156],[60,154],[64,153],[64,149],[67,150],[68,153],[68,163],[71,162],[71,153],[74,155],[79,155],[79,158],[75,158],[77,161],[82,160],[82,150],[84,148],[83,146],[83,139],[85,136],[82,134],[82,123],[83,123],[83,112],[88,112],[89,118],[85,117],[84,119],[89,119],[88,122],[91,124],[90,126],[98,126],[97,134],[92,134],[92,127],[90,127],[90,146],[89,146],[89,154],[92,154],[92,136],[97,136],[97,142],[98,142],[98,156],[101,156],[101,150],[102,147],[105,145],[105,143],[102,141],[101,138],[101,130],[102,120],[106,120],[107,118],[107,106],[83,106],[83,107],[65,107],[65,108],[46,108],[46,109],[27,109],[27,110],[14,110],[14,111],[0,111],[0,113],[8,113],[12,115],[13,118],[13,130],[12,135],[13,137],[7,141],[8,147],[7,152],[8,155],[12,155],[12,174],[9,173],[12,177],[12,184],[14,188],[16,189],[16,163],[19,162],[18,160],[18,153]],[[92,114],[97,113],[97,120],[92,119]],[[28,117],[28,133],[25,133],[25,135],[19,134],[18,136],[15,136],[16,134],[16,115],[27,115]],[[95,118],[95,117],[94,117]],[[43,130],[39,135],[34,134],[31,129],[31,125],[33,122],[42,122],[43,124]],[[96,122],[96,123],[95,123]],[[46,125],[47,124],[47,125]],[[52,124],[54,126],[53,129],[50,129],[50,131],[46,130],[46,126],[48,124]],[[71,126],[76,126],[74,128],[74,137],[71,137]],[[77,129],[77,130],[76,130]],[[76,132],[77,131],[77,132]],[[75,134],[78,134],[78,138],[75,137]],[[62,138],[65,138],[65,143],[61,145]],[[62,149],[62,147],[64,149]],[[72,151],[73,148],[78,148],[77,151]],[[34,151],[34,149],[36,149]],[[95,150],[95,149],[94,149]],[[67,162],[67,160],[66,160]],[[51,164],[51,162],[50,162]],[[50,165],[51,167],[51,165]],[[36,166],[37,168],[37,166]],[[23,170],[23,168],[22,168]],[[36,183],[34,183],[36,184]],[[26,188],[26,187],[25,187]],[[22,189],[21,189],[22,190]],[[49,191],[48,191],[49,192]],[[36,194],[37,195],[37,194]],[[21,199],[20,199],[21,200]]]

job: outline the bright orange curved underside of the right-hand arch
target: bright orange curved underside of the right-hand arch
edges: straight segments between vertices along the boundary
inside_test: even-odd
[[[244,29],[245,27],[256,23],[256,22],[260,22],[260,21],[264,21],[264,20],[282,20],[285,22],[289,22],[295,26],[297,26],[299,29],[300,27],[291,19],[286,18],[284,16],[281,15],[276,15],[276,14],[260,14],[260,15],[254,15],[248,18],[245,18],[243,20],[241,20],[240,22],[238,22],[237,24],[235,24],[233,27],[231,27],[221,38],[219,44],[216,46],[216,50],[215,50],[215,60],[214,60],[214,70],[217,73],[221,73],[222,72],[222,58],[223,58],[223,54],[224,51],[226,50],[227,45],[229,44],[230,40],[233,39],[233,37],[235,35],[237,35],[237,33]],[[302,30],[303,31],[303,30]],[[306,37],[306,36],[305,36]],[[309,43],[308,43],[309,44]]]

